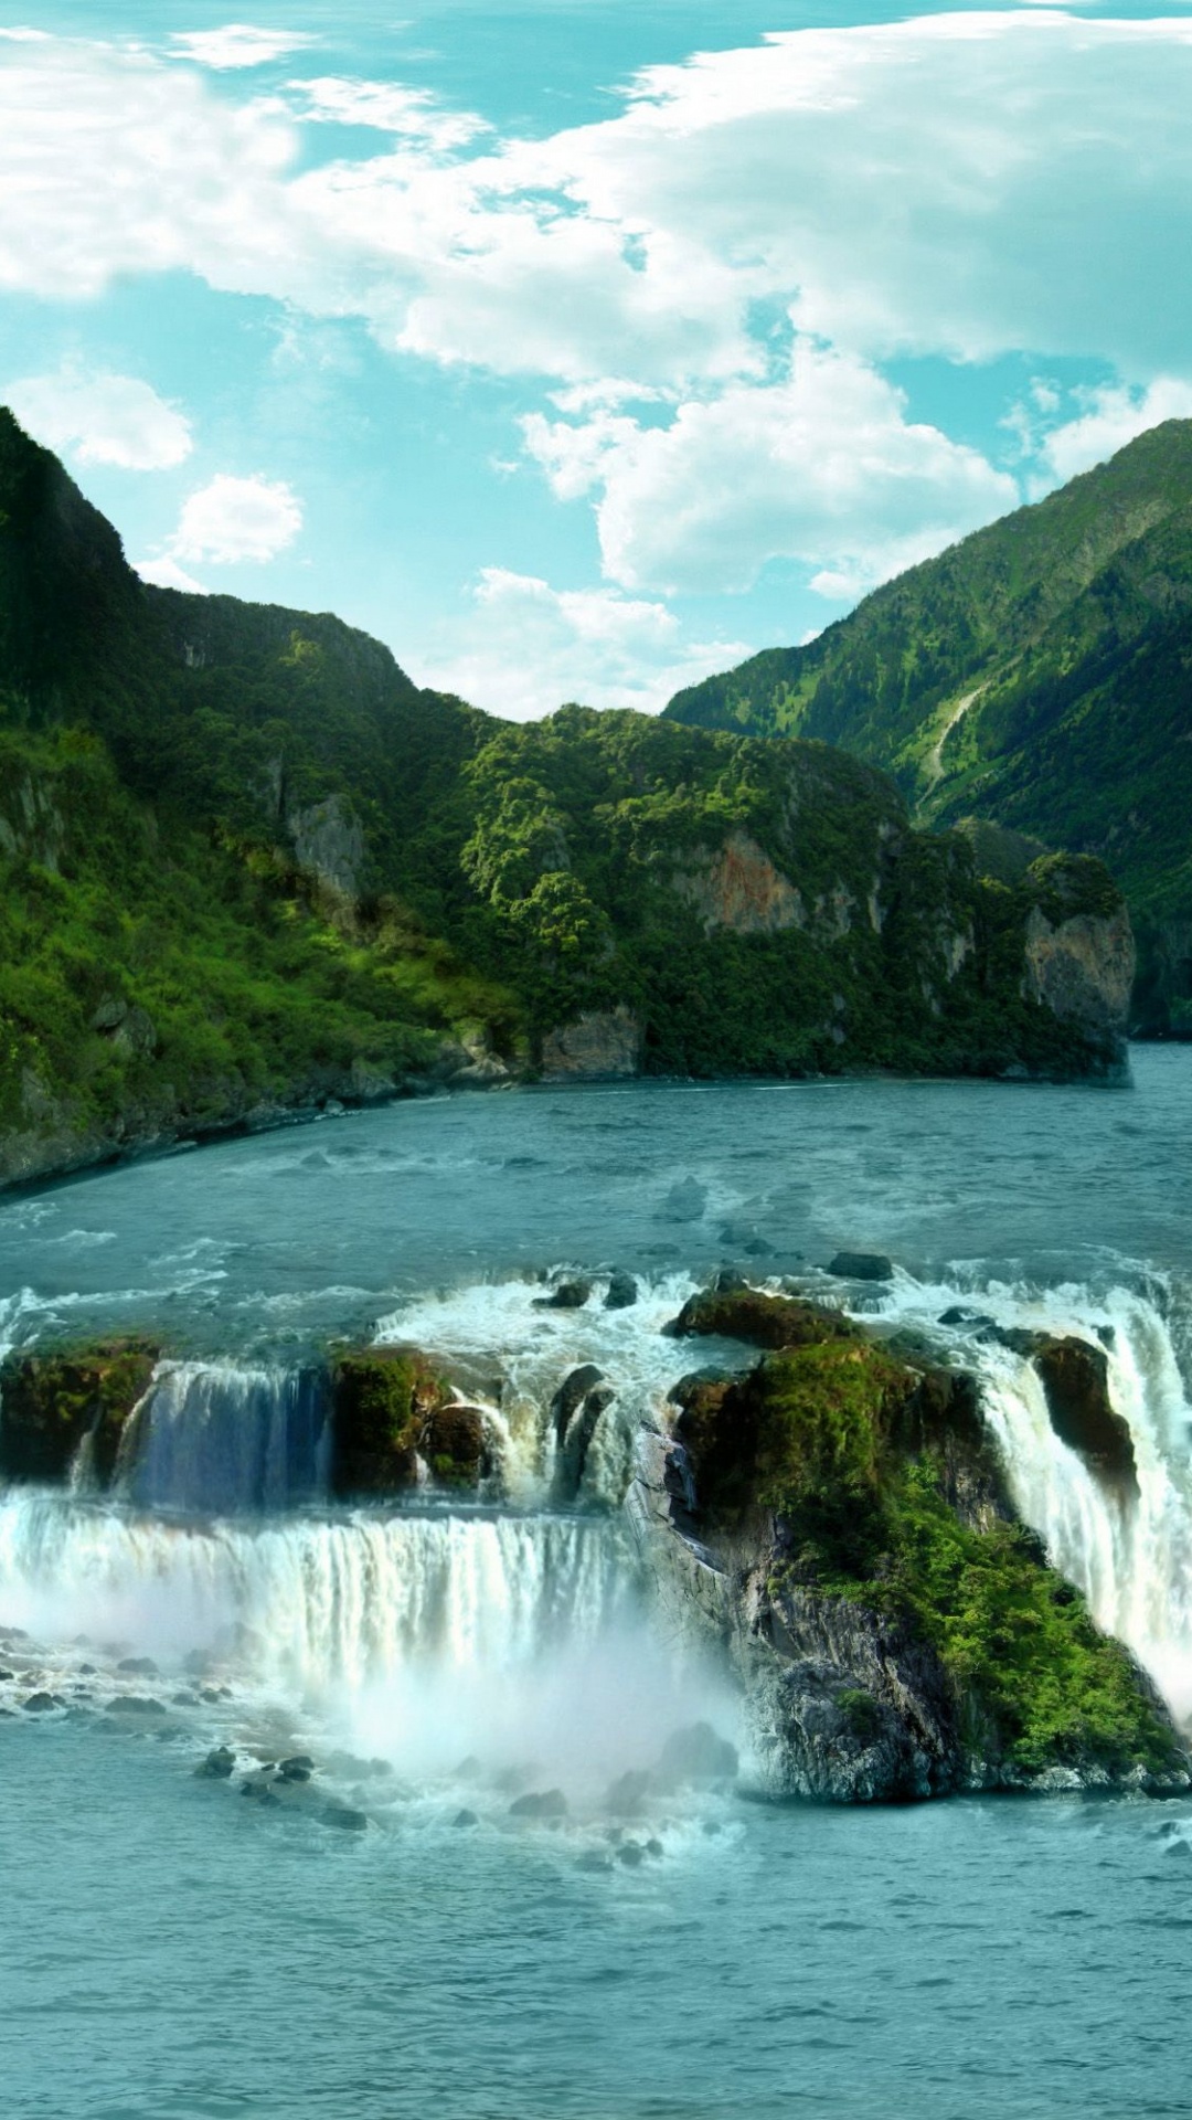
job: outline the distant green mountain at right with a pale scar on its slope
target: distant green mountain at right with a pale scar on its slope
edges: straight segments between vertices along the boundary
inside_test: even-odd
[[[1190,666],[1192,422],[1171,420],[666,714],[823,738],[921,823],[1099,854],[1139,931],[1139,1028],[1192,1032]]]

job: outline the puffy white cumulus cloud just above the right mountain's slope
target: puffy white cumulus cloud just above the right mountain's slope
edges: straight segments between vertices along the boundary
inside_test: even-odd
[[[526,420],[560,498],[596,488],[604,572],[641,589],[749,589],[800,560],[836,600],[1012,509],[1014,479],[940,428],[851,354],[795,341],[789,375],[681,405],[668,426],[624,413]]]

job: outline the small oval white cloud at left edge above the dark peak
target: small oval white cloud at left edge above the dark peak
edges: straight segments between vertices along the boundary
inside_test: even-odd
[[[66,449],[78,464],[170,471],[193,447],[189,420],[134,375],[89,375],[66,365],[53,375],[23,375],[0,394],[36,441]]]

